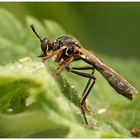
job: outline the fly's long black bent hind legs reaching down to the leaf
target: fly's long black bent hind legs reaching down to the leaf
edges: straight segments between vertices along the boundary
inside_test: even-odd
[[[90,68],[88,67],[87,69],[90,69]],[[80,101],[81,111],[82,111],[82,114],[83,114],[86,125],[88,125],[88,121],[87,121],[87,118],[86,118],[86,115],[85,115],[85,111],[88,111],[88,109],[86,107],[86,98],[89,95],[92,87],[95,84],[95,80],[96,80],[96,77],[93,75],[94,74],[94,68],[93,67],[92,67],[92,70],[93,70],[92,74],[83,73],[83,72],[79,71],[79,70],[87,70],[87,69],[85,67],[83,67],[83,68],[69,68],[69,67],[67,67],[66,68],[66,70],[69,71],[69,72],[72,72],[72,73],[77,74],[77,75],[82,76],[82,77],[89,78],[89,80],[87,82],[87,85],[84,89],[84,92],[82,94],[82,99]]]

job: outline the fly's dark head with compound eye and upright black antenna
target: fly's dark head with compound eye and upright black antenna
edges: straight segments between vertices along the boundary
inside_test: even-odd
[[[36,32],[33,24],[31,24],[30,27],[31,27],[32,31],[34,32],[34,34],[37,36],[37,38],[40,40],[40,43],[41,43],[40,47],[41,47],[43,54],[41,54],[39,57],[47,56],[47,53],[52,50],[52,44],[51,44],[50,40],[47,37],[42,39],[38,35],[38,33]]]

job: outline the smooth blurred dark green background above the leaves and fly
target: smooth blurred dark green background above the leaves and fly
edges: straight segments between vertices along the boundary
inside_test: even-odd
[[[140,59],[140,3],[1,2],[22,23],[27,15],[58,22],[95,53]]]

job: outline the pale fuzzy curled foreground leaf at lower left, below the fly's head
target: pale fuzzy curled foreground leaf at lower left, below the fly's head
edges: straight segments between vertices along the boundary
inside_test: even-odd
[[[0,99],[1,137],[42,137],[42,134],[45,137],[74,137],[80,134],[75,134],[75,127],[84,130],[41,62],[2,66],[0,79],[0,88],[5,87]],[[61,131],[63,133],[59,134]],[[90,133],[87,132],[91,137]]]

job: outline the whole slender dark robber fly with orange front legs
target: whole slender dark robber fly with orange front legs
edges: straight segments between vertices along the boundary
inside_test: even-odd
[[[86,98],[96,81],[96,77],[94,76],[95,69],[103,75],[103,77],[117,91],[117,93],[123,95],[129,100],[133,99],[133,94],[136,93],[137,90],[131,84],[129,84],[127,80],[117,74],[113,69],[105,65],[95,55],[84,49],[73,37],[61,36],[54,42],[51,42],[48,38],[41,38],[36,32],[33,24],[30,26],[32,31],[40,40],[41,50],[43,52],[43,54],[40,55],[42,61],[56,56],[55,61],[59,63],[59,66],[56,70],[56,75],[60,75],[60,73],[66,69],[68,72],[88,78],[88,82],[82,93],[82,99],[80,102],[81,112],[86,125],[88,124],[88,121],[85,112],[90,111],[86,106]],[[70,63],[78,60],[85,61],[89,64],[89,66],[73,68],[69,67]],[[81,72],[84,70],[91,70],[92,72],[91,74]]]

